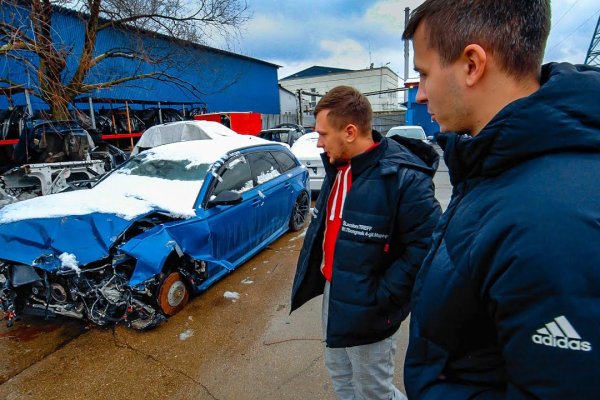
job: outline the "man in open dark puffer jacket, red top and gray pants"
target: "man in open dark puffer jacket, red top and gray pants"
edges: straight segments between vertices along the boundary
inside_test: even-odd
[[[351,87],[329,91],[315,116],[327,173],[292,311],[324,293],[325,364],[338,399],[403,399],[393,384],[396,332],[440,216],[438,155],[421,141],[372,134],[371,105]]]

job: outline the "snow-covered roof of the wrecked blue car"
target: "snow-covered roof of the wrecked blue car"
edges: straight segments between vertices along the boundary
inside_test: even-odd
[[[281,147],[282,149],[287,148],[277,142],[255,136],[236,135],[213,140],[189,140],[169,143],[153,147],[141,154],[169,160],[189,160],[199,164],[212,164],[232,151],[267,145]]]

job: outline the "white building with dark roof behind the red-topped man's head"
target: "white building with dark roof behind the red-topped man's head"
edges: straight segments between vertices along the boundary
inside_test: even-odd
[[[312,110],[319,101],[319,95],[324,95],[340,85],[353,86],[367,95],[373,112],[400,109],[397,91],[398,75],[388,67],[353,71],[313,66],[280,79],[279,84],[296,96],[298,96],[298,91],[302,92],[302,111],[305,114],[312,114]],[[311,95],[310,93],[315,94]]]

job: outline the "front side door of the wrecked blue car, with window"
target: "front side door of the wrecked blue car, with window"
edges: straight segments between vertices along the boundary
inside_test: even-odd
[[[262,204],[262,199],[253,188],[250,165],[243,154],[228,160],[217,171],[216,184],[209,189],[208,198],[214,198],[224,190],[231,190],[242,195],[242,202],[206,206],[215,258],[238,264],[254,248],[257,208]]]

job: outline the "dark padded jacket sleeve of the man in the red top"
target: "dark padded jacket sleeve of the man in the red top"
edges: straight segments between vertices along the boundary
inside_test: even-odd
[[[397,256],[379,280],[377,302],[384,309],[405,309],[406,317],[415,277],[441,215],[431,176],[407,170],[400,182],[396,207],[389,251]]]

